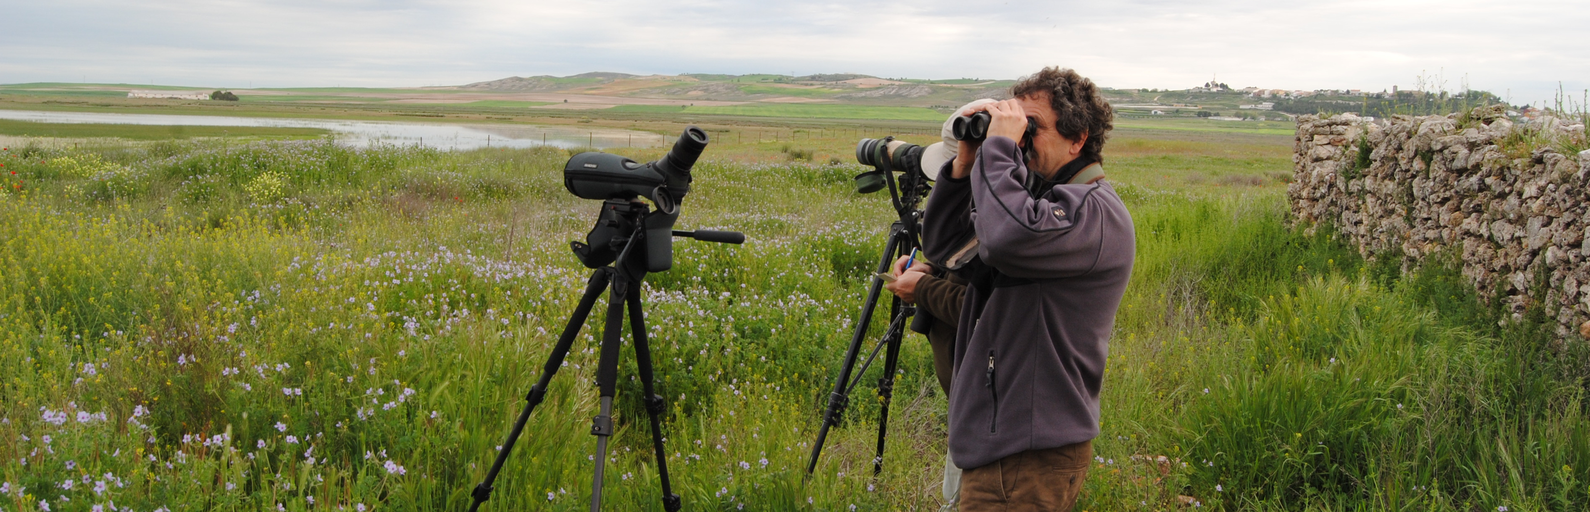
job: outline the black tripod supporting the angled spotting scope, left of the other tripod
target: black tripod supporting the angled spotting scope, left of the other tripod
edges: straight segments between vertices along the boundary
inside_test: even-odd
[[[564,324],[563,334],[558,337],[558,343],[552,348],[552,355],[547,356],[547,364],[541,367],[541,380],[529,386],[529,394],[525,396],[525,409],[520,410],[518,420],[514,421],[514,429],[509,431],[507,440],[502,442],[502,448],[498,452],[496,461],[491,463],[491,469],[487,471],[485,482],[475,485],[471,496],[474,502],[469,506],[469,512],[480,509],[480,504],[491,498],[491,483],[496,482],[498,472],[502,471],[502,464],[507,463],[509,452],[514,450],[514,444],[518,442],[518,436],[525,431],[525,421],[529,420],[531,410],[541,404],[547,396],[547,385],[552,383],[552,377],[558,374],[558,367],[563,366],[563,358],[568,356],[569,347],[574,345],[574,337],[579,336],[580,326],[585,324],[585,318],[590,316],[591,308],[596,305],[596,299],[601,297],[603,289],[607,288],[607,320],[603,326],[601,337],[601,355],[596,366],[596,386],[599,390],[599,412],[596,418],[591,420],[591,436],[596,436],[596,469],[591,475],[591,512],[601,510],[601,488],[603,488],[603,471],[607,461],[607,437],[612,437],[612,398],[615,394],[619,380],[619,342],[620,331],[623,331],[625,308],[630,313],[630,337],[634,342],[634,358],[636,367],[641,374],[641,398],[646,402],[646,413],[652,421],[652,445],[655,447],[657,456],[657,475],[663,483],[663,509],[668,512],[676,512],[681,507],[679,495],[674,495],[673,485],[668,480],[668,456],[663,450],[663,423],[661,415],[665,410],[663,398],[658,396],[652,386],[652,350],[646,339],[646,318],[641,312],[641,280],[646,278],[647,258],[646,258],[646,216],[650,215],[644,204],[634,204],[630,200],[607,200],[603,204],[604,219],[598,223],[603,226],[614,227],[617,235],[612,237],[612,245],[619,253],[617,259],[611,266],[596,269],[590,280],[585,281],[585,294],[580,296],[579,305],[574,307],[574,313],[569,315],[569,323]],[[741,243],[744,235],[738,232],[727,231],[673,231],[674,237],[690,237],[703,242],[723,242],[723,243]],[[580,245],[574,243],[576,251]],[[639,248],[639,250],[636,250]]]

